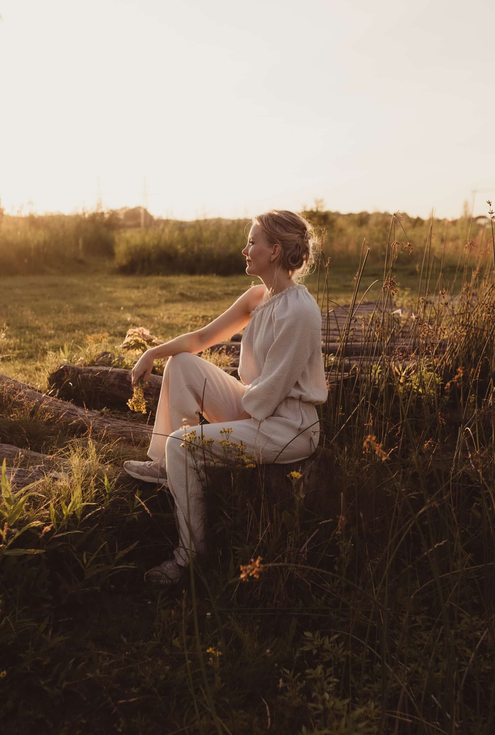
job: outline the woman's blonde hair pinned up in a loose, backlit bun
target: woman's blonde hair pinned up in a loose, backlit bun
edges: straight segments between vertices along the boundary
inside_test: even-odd
[[[313,225],[288,209],[269,209],[253,217],[252,223],[260,225],[268,245],[279,243],[282,248],[278,268],[288,270],[294,282],[302,283],[316,262],[319,247]]]

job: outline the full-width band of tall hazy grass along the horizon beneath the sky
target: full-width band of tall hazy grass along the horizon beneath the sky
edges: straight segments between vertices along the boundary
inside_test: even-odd
[[[341,214],[303,210],[318,234],[327,232],[325,257],[332,265],[357,260],[363,240],[370,248],[368,266],[385,257],[391,215],[374,212]],[[193,222],[154,220],[146,216],[143,229],[129,227],[118,212],[83,212],[79,215],[0,217],[0,259],[5,274],[78,270],[93,260],[105,259],[121,273],[173,274],[243,273],[241,250],[250,220],[203,219]],[[407,232],[407,236],[406,233]],[[245,234],[246,233],[246,234]],[[463,216],[452,222],[422,220],[402,215],[396,248],[410,252],[409,266],[421,267],[427,247],[436,262],[457,265],[464,249],[477,257],[490,247],[487,223]],[[430,243],[430,244],[428,244]]]

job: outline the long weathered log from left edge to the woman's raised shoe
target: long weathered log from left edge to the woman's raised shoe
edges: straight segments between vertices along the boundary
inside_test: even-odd
[[[0,374],[0,404],[13,408],[35,410],[47,420],[56,420],[67,428],[84,430],[112,439],[125,439],[135,444],[149,442],[152,426],[137,421],[123,421],[106,417],[96,411],[74,406],[58,398],[51,398],[39,390]]]

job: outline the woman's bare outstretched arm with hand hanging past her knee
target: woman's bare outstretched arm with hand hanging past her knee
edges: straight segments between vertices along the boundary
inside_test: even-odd
[[[237,301],[229,306],[229,309],[221,314],[219,317],[214,319],[212,322],[198,329],[197,331],[190,331],[187,334],[181,334],[179,337],[175,337],[174,340],[163,343],[163,345],[157,345],[146,350],[138,362],[136,362],[134,368],[132,368],[132,385],[140,377],[146,382],[152,373],[153,362],[155,359],[163,357],[171,357],[177,355],[179,352],[202,352],[208,347],[215,345],[218,342],[223,342],[232,337],[236,331],[243,329],[249,322],[250,314],[253,309],[260,304],[266,288],[261,284],[260,286],[253,286],[245,293],[243,293]]]

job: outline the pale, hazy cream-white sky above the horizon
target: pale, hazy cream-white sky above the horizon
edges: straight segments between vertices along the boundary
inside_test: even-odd
[[[7,212],[455,218],[495,200],[489,0],[0,0]],[[146,177],[146,198],[143,179]],[[488,191],[485,191],[488,190]]]

